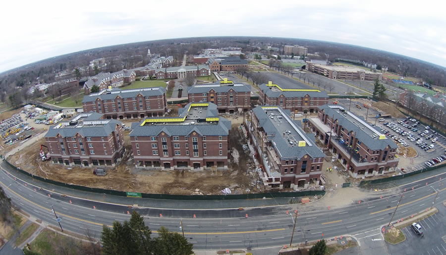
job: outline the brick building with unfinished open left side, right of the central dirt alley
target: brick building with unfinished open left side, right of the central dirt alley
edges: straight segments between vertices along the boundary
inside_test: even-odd
[[[266,189],[319,185],[325,154],[316,146],[314,135],[306,134],[290,114],[279,106],[257,106],[252,126],[247,124]]]

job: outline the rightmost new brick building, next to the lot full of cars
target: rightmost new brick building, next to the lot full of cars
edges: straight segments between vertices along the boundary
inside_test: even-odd
[[[395,171],[397,145],[362,116],[338,105],[319,107],[309,125],[333,152],[353,178],[383,175]]]

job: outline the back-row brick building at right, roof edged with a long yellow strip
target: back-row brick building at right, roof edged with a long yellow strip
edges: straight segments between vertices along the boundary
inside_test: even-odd
[[[313,89],[298,89],[273,84],[259,85],[259,101],[261,105],[278,105],[291,112],[318,112],[319,106],[327,104],[327,92]]]

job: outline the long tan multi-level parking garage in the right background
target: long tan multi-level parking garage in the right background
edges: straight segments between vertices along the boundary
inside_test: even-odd
[[[383,74],[367,71],[361,68],[347,65],[323,65],[307,61],[307,70],[331,79],[374,81],[383,79]]]

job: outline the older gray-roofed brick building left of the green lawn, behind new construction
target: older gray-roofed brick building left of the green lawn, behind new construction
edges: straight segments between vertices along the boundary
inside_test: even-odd
[[[85,95],[90,94],[91,87],[96,85],[99,90],[105,90],[109,86],[111,88],[119,88],[124,83],[134,82],[136,80],[136,73],[132,70],[123,69],[114,73],[100,73],[89,78],[84,84]]]

